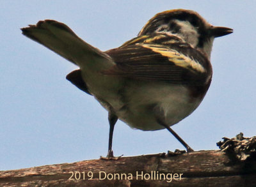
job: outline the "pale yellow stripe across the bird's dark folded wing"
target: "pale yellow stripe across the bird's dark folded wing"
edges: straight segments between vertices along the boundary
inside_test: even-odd
[[[204,66],[198,63],[198,61],[196,61],[191,57],[185,56],[184,54],[181,54],[177,50],[167,49],[161,46],[149,45],[149,44],[142,44],[141,46],[151,49],[154,52],[161,54],[162,56],[168,57],[168,59],[173,63],[175,63],[175,65],[177,66],[180,66],[182,68],[186,68],[189,70],[198,71],[200,73],[206,72]]]

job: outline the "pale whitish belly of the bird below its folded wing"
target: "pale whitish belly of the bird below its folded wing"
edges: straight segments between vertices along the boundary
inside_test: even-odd
[[[129,102],[125,103],[128,107],[122,110],[115,108],[116,114],[129,126],[140,130],[163,129],[164,127],[157,123],[157,117],[172,126],[189,116],[202,101],[191,99],[187,87],[159,82],[131,86],[125,96],[129,98]],[[119,102],[120,100],[115,100],[112,105],[122,105]]]

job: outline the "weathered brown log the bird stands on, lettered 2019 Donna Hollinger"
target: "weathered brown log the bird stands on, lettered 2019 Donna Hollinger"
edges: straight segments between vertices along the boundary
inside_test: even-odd
[[[22,185],[256,186],[256,161],[230,160],[221,151],[196,151],[177,156],[152,154],[0,172],[0,186]]]

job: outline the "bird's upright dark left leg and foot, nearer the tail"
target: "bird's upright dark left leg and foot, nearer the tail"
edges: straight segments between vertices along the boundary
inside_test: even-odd
[[[109,121],[109,139],[108,139],[108,155],[106,157],[100,156],[104,160],[117,160],[120,156],[115,157],[112,150],[112,140],[113,140],[113,131],[118,117],[109,111],[108,121]]]

